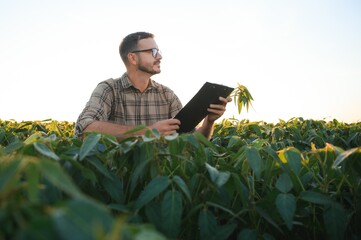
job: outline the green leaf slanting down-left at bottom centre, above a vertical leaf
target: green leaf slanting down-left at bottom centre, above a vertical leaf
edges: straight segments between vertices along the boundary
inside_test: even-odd
[[[170,184],[167,176],[155,177],[142,191],[135,202],[135,208],[140,209],[145,204],[152,201],[156,196],[163,192]]]

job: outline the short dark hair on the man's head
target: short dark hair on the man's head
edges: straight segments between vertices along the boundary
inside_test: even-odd
[[[124,64],[128,63],[128,53],[138,50],[139,40],[146,38],[154,38],[152,33],[148,32],[135,32],[126,36],[119,45],[119,54]]]

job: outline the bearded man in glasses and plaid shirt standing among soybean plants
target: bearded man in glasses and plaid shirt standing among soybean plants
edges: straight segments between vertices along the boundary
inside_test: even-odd
[[[141,124],[163,135],[175,133],[182,123],[173,117],[182,104],[171,89],[151,79],[161,72],[162,59],[154,35],[129,34],[120,44],[119,53],[126,73],[98,84],[76,122],[75,134],[100,132],[119,136]],[[195,130],[208,139],[212,136],[214,122],[223,115],[231,99],[220,97],[220,101],[221,104],[209,106],[209,114]]]

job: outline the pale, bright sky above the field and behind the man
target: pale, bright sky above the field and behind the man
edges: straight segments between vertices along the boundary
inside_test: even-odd
[[[254,109],[225,117],[361,121],[359,0],[0,0],[0,119],[76,121],[136,31],[155,34],[153,79],[183,105],[206,81],[240,83]]]

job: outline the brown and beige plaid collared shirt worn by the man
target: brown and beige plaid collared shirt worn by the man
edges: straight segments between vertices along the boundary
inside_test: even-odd
[[[95,121],[149,126],[174,117],[181,108],[182,103],[168,87],[151,80],[141,93],[124,73],[98,84],[76,122],[75,134],[81,135]]]

